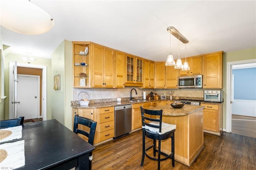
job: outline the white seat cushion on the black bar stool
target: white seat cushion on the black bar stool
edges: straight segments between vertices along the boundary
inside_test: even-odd
[[[159,126],[159,122],[150,122],[149,124]],[[145,125],[145,127],[142,127],[142,128],[146,128],[146,129],[150,130],[151,132],[155,132],[158,134],[165,134],[166,132],[170,132],[170,131],[176,129],[176,125],[162,122],[162,129],[161,129],[162,132],[159,132],[159,128],[149,127],[147,125]]]

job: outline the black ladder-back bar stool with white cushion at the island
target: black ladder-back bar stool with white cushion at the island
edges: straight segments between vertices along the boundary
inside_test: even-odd
[[[174,167],[174,132],[176,125],[162,122],[162,109],[160,111],[153,111],[140,107],[140,111],[142,115],[142,160],[140,166],[143,166],[146,155],[148,158],[158,161],[158,170],[160,170],[160,161],[168,158],[172,159],[172,166]],[[145,148],[145,136],[153,139],[153,145],[147,148]],[[161,152],[161,140],[168,138],[171,138],[172,151],[170,154]],[[156,148],[156,141],[158,141],[158,148]],[[153,148],[153,156],[147,153],[147,150],[150,148]],[[158,153],[157,157],[156,152]],[[161,154],[164,157],[160,158]]]

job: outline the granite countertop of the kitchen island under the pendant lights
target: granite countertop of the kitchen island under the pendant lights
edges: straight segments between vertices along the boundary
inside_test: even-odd
[[[194,105],[184,105],[184,107],[180,109],[175,109],[172,106],[162,106],[162,107],[154,107],[150,108],[150,110],[163,110],[163,115],[166,116],[186,116],[200,109],[204,109],[204,106],[194,106]]]

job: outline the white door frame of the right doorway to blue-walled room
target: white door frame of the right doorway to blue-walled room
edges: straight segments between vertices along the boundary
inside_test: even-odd
[[[227,62],[227,95],[226,95],[226,132],[232,132],[232,66],[256,63],[256,59]]]

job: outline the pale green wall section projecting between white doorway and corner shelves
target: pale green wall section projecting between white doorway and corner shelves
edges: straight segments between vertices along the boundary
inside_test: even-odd
[[[52,94],[52,119],[72,129],[73,65],[72,42],[64,40],[52,55],[52,79],[60,74],[60,90],[50,89]]]

